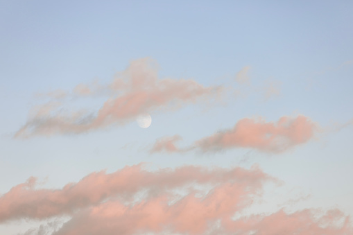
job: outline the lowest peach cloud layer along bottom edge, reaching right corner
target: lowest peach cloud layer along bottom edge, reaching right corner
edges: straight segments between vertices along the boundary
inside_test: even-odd
[[[310,209],[293,214],[281,210],[267,216],[253,215],[232,220],[234,211],[241,209],[239,204],[242,201],[238,195],[238,191],[224,186],[215,189],[205,198],[188,195],[171,205],[163,197],[139,202],[132,207],[119,202],[106,202],[85,213],[76,214],[54,235],[130,235],[148,232],[194,235],[350,235],[353,232],[349,217],[338,210],[327,211],[324,216],[318,216]],[[343,220],[343,225],[337,225],[339,220]]]

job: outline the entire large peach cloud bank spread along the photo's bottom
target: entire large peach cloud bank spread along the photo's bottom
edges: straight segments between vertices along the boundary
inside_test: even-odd
[[[3,223],[71,216],[61,227],[48,223],[28,234],[352,234],[350,218],[338,209],[323,214],[314,209],[289,214],[281,209],[242,216],[261,198],[267,182],[276,180],[257,166],[158,171],[130,166],[110,174],[92,173],[56,190],[35,189],[32,177],[1,196],[0,218]]]

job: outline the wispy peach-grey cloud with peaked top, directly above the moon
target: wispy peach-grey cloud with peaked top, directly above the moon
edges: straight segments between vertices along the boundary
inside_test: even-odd
[[[78,110],[63,113],[60,112],[63,107],[60,107],[40,118],[34,115],[15,133],[15,137],[79,134],[114,124],[121,125],[140,114],[216,98],[221,94],[222,87],[204,87],[195,80],[160,79],[153,61],[146,58],[131,62],[111,84],[105,87],[97,84],[94,87],[78,85],[74,94],[89,96],[102,91],[107,91],[110,98],[96,112]]]

